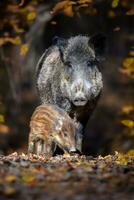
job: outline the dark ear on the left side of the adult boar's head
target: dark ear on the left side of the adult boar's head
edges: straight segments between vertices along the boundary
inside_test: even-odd
[[[60,52],[63,53],[65,46],[67,45],[67,40],[58,36],[55,36],[52,40],[52,44],[56,45]]]

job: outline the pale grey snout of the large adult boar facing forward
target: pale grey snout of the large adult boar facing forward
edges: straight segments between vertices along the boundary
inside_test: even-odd
[[[72,102],[75,106],[84,106],[89,100],[91,84],[88,81],[77,80],[72,84]]]

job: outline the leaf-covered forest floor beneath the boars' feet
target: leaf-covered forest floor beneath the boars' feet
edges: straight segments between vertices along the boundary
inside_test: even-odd
[[[0,200],[131,200],[134,156],[0,156]]]

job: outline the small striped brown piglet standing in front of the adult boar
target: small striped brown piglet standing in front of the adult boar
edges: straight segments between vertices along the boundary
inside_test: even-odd
[[[64,152],[76,151],[78,126],[58,106],[38,106],[30,122],[29,153],[52,156],[58,145]]]

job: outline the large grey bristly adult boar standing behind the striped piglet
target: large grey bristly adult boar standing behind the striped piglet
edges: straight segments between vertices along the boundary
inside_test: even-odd
[[[58,105],[86,125],[100,96],[100,71],[105,36],[55,37],[37,64],[37,88],[42,103]]]

